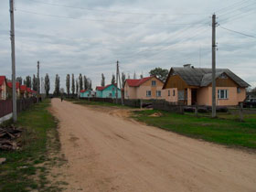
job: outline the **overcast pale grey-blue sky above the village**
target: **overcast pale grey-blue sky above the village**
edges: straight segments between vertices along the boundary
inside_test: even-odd
[[[41,3],[40,3],[41,2]],[[42,2],[47,4],[42,4]],[[256,86],[255,0],[16,0],[16,76],[79,73],[92,87],[111,82],[115,63],[126,76],[150,69],[211,68],[211,15],[216,13],[217,68]],[[220,27],[254,37],[243,36]],[[11,78],[9,1],[0,1],[0,75]]]

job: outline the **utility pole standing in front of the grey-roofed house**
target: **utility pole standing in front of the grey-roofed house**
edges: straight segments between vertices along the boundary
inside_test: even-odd
[[[216,117],[216,15],[212,16],[212,117]]]

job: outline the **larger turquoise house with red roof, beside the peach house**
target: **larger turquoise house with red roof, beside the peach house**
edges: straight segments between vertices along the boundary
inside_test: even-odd
[[[117,97],[121,98],[121,90],[116,88],[116,84],[110,84],[107,86],[97,86],[96,87],[96,97],[98,98],[116,98],[116,90],[118,92]]]

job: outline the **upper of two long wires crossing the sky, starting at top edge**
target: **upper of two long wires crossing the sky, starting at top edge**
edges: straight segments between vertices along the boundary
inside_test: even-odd
[[[29,0],[31,2],[35,2],[37,4],[44,4],[44,5],[54,5],[54,6],[62,6],[66,8],[73,8],[73,9],[81,9],[81,10],[88,10],[88,11],[96,11],[96,12],[105,12],[105,13],[113,13],[113,14],[123,14],[123,15],[164,15],[164,16],[178,16],[178,15],[206,15],[206,14],[196,14],[196,13],[179,13],[179,14],[165,14],[165,13],[136,13],[136,12],[121,12],[121,11],[108,11],[108,10],[100,10],[100,9],[92,9],[92,8],[86,8],[86,7],[78,7],[78,6],[70,6],[70,5],[59,5],[59,4],[53,4],[53,3],[46,3],[36,0]]]

